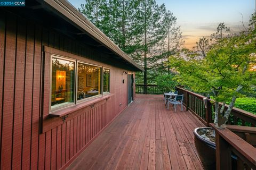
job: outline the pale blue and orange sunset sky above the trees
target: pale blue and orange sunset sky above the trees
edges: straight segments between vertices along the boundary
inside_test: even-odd
[[[69,0],[76,8],[83,0]],[[255,11],[255,0],[156,0],[177,17],[185,47],[192,48],[200,37],[209,37],[220,22],[233,31],[243,30]]]

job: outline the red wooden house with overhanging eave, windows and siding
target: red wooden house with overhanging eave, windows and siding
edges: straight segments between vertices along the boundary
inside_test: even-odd
[[[135,71],[65,0],[1,7],[1,169],[65,168],[134,99]]]

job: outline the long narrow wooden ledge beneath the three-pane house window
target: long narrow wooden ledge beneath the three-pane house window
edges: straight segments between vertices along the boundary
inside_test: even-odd
[[[50,117],[63,117],[63,116],[66,116],[66,115],[68,115],[70,113],[73,113],[73,112],[75,112],[75,111],[77,111],[77,110],[79,110],[81,108],[88,107],[88,106],[93,107],[94,104],[98,103],[99,101],[108,99],[111,96],[114,96],[114,94],[107,94],[107,95],[103,95],[101,97],[93,98],[91,100],[86,100],[84,102],[78,103],[75,106],[70,106],[70,107],[63,108],[63,109],[58,110],[58,111],[51,112],[49,114],[49,116]]]

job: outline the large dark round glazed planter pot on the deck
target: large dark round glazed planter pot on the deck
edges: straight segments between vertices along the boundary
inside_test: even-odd
[[[195,146],[198,152],[199,158],[203,164],[204,169],[216,169],[215,150],[216,146],[214,142],[202,138],[197,131],[199,129],[212,129],[207,127],[200,127],[194,130]]]

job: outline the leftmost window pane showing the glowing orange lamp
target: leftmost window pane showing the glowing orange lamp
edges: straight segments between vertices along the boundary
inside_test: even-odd
[[[52,108],[74,103],[75,62],[52,58]]]

